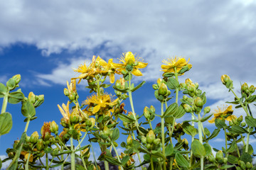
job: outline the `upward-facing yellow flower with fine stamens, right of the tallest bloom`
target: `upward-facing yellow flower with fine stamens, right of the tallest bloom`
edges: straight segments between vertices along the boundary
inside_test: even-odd
[[[188,59],[188,62],[186,62],[185,58],[183,58],[183,57],[178,57],[178,58],[171,57],[171,59],[163,60],[162,62],[164,62],[164,64],[166,64],[166,65],[161,65],[161,69],[163,69],[161,71],[174,73],[175,67],[176,67],[176,71],[179,72],[182,69],[182,67],[188,65],[189,59]],[[192,65],[191,65],[191,67],[192,67]]]

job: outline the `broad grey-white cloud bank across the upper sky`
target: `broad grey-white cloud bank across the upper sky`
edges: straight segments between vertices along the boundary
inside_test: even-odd
[[[210,90],[210,98],[218,99],[225,94],[225,88],[217,90],[222,74],[255,82],[255,6],[255,1],[238,0],[6,1],[0,7],[5,16],[0,18],[0,47],[23,42],[36,45],[44,56],[82,51],[105,59],[137,52],[149,63],[140,77],[146,81],[161,77],[161,60],[185,56],[193,68],[184,77],[198,81]],[[69,68],[84,60],[59,62],[50,74],[38,74],[39,83],[65,84],[73,77]]]

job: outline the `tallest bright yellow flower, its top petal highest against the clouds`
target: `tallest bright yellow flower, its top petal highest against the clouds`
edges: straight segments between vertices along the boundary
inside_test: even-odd
[[[132,52],[123,53],[123,56],[119,60],[122,63],[121,64],[114,63],[113,66],[117,68],[119,72],[122,72],[126,70],[127,65],[131,65],[132,74],[134,74],[134,76],[142,76],[142,72],[140,72],[139,69],[143,69],[147,65],[147,63],[145,62],[139,62],[139,58],[135,58]]]

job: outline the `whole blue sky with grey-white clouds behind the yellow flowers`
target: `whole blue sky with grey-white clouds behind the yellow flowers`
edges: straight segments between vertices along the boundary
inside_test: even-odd
[[[0,6],[0,82],[21,74],[25,96],[30,91],[45,95],[43,105],[36,108],[38,118],[29,125],[31,135],[40,131],[43,122],[60,121],[57,105],[68,101],[63,94],[66,81],[78,76],[73,68],[93,55],[119,62],[123,52],[131,51],[149,63],[142,69],[144,76],[135,79],[135,84],[146,81],[134,93],[138,114],[144,106],[160,106],[151,86],[161,77],[161,61],[186,57],[193,67],[181,82],[187,78],[198,82],[213,110],[234,98],[221,83],[221,75],[228,74],[238,92],[244,82],[256,85],[255,8],[252,0],[4,1]],[[84,87],[78,86],[80,101],[89,95]],[[126,107],[131,110],[129,103]],[[251,108],[256,110],[256,106]],[[20,109],[21,104],[7,106],[14,126],[1,136],[0,154],[25,128]],[[239,109],[234,114],[245,115]],[[214,129],[209,123],[205,126]],[[216,145],[222,143],[221,137],[215,139]]]

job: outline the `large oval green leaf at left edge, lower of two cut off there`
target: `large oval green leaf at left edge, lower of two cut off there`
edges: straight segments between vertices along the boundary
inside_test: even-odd
[[[0,115],[0,136],[9,133],[12,128],[12,119],[10,113],[1,113]]]

